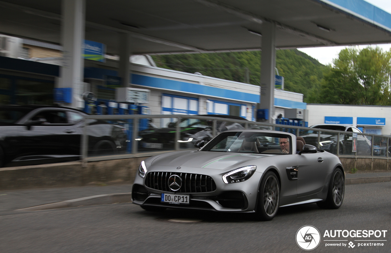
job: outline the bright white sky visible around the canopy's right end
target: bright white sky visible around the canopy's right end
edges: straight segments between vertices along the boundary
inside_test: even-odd
[[[365,0],[366,2],[373,4],[380,9],[391,13],[391,0]],[[389,44],[378,44],[378,47],[382,48],[384,51],[389,51],[391,48],[391,43]],[[365,48],[368,45],[360,45],[359,48]],[[308,47],[308,48],[298,48],[298,50],[305,52],[312,58],[317,59],[322,64],[332,63],[334,58],[338,58],[338,53],[346,48],[345,46],[335,46],[335,47]]]

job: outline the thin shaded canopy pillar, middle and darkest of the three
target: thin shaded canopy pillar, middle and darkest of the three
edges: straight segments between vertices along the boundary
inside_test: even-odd
[[[120,33],[120,68],[118,75],[122,80],[122,87],[130,87],[132,82],[130,75],[131,38],[129,33]]]

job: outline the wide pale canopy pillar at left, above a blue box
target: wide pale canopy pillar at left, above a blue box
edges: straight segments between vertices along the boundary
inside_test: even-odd
[[[81,95],[84,92],[84,27],[85,0],[61,1],[61,44],[63,45],[63,65],[60,67],[59,88],[72,88],[72,103],[66,107],[83,108]]]

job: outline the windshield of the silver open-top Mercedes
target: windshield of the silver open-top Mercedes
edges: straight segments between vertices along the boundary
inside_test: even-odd
[[[283,133],[224,132],[210,141],[202,151],[249,154],[292,154],[291,143],[291,136]]]

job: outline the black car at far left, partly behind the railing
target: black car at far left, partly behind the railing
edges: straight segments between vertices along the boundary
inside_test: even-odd
[[[0,166],[79,160],[84,115],[67,107],[0,106]],[[126,150],[126,129],[120,125],[93,119],[85,130],[89,155]]]

